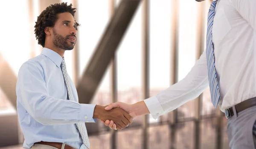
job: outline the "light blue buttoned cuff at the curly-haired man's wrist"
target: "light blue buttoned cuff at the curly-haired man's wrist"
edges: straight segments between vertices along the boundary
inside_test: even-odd
[[[96,118],[93,118],[93,112],[96,104],[83,104],[81,103],[81,112],[79,113],[79,119],[85,120],[85,123],[95,123]]]

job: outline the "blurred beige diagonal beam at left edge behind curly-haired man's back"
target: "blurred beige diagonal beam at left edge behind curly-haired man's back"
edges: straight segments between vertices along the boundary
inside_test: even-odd
[[[16,82],[17,77],[11,66],[0,54],[0,88],[5,93],[7,99],[16,109]]]

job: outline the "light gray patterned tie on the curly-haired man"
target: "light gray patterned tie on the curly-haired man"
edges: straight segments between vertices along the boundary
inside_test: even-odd
[[[67,86],[67,94],[68,94],[69,100],[74,100],[74,96],[73,96],[72,88],[71,88],[71,85],[70,85],[70,80],[69,80],[69,77],[68,77],[68,74],[67,74],[67,68],[66,68],[66,63],[65,63],[64,58],[62,59],[62,62],[61,62],[61,70],[62,70],[62,73],[63,73],[65,84]],[[85,124],[84,123],[76,123],[76,127],[80,132],[80,135],[81,135],[81,138],[83,140],[84,145],[89,149],[90,148],[90,142],[89,142],[89,139],[88,139]]]

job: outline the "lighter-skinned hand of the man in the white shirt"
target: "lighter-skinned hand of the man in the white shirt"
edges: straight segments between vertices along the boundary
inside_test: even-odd
[[[125,110],[125,112],[131,115],[132,118],[137,117],[137,114],[134,112],[133,105],[122,102],[111,103],[110,105],[105,107],[105,110],[111,110],[112,108],[116,107]],[[109,128],[116,130],[116,123],[114,123],[113,120],[101,120],[101,122],[104,123],[105,126],[109,126]]]

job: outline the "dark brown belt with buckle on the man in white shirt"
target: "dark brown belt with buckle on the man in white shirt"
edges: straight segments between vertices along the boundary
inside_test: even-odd
[[[235,106],[236,113],[239,113],[245,109],[248,109],[250,107],[256,106],[256,97],[250,98],[248,100],[245,100]],[[234,115],[233,108],[225,109],[225,115],[226,118],[230,118]]]

